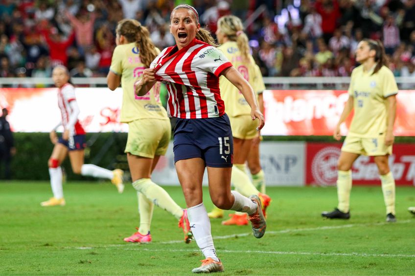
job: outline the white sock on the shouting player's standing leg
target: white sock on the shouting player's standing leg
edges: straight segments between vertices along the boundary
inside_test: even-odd
[[[187,208],[187,216],[189,218],[190,229],[197,245],[203,255],[205,255],[205,258],[210,257],[215,261],[219,261],[213,245],[212,234],[210,234],[210,220],[208,212],[206,212],[203,202],[196,206]]]

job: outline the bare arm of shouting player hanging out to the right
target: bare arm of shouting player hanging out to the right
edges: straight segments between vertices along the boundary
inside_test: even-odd
[[[256,118],[259,120],[258,129],[261,129],[265,125],[264,115],[259,110],[258,103],[256,102],[256,97],[254,94],[254,89],[252,86],[242,77],[242,75],[235,69],[235,67],[231,66],[225,69],[222,72],[222,75],[227,78],[232,85],[235,85],[236,88],[241,91],[242,95],[244,95],[245,100],[251,106],[251,117],[252,120]]]

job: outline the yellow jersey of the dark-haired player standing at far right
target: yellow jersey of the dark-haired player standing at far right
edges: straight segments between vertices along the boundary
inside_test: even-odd
[[[365,72],[363,65],[351,74],[348,94],[353,97],[354,117],[349,135],[375,138],[386,131],[388,117],[387,97],[398,93],[392,71],[382,66],[376,74],[374,67]]]

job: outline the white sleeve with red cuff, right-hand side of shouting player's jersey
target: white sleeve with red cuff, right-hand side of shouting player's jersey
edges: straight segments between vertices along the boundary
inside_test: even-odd
[[[213,46],[202,49],[195,59],[197,67],[214,74],[216,77],[219,77],[223,70],[232,66],[223,52]]]

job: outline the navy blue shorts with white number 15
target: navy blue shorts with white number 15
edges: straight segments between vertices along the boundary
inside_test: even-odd
[[[228,115],[205,119],[177,119],[173,141],[174,163],[202,158],[207,167],[229,168],[233,140]]]

